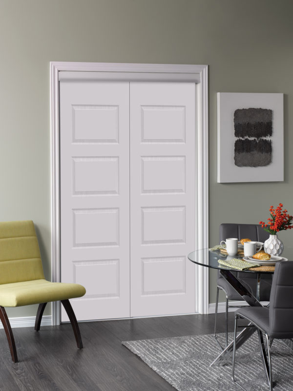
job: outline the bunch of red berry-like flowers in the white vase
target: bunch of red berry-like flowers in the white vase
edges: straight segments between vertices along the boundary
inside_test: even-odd
[[[283,209],[283,204],[279,204],[275,209],[270,206],[271,218],[268,219],[268,224],[264,221],[260,221],[262,227],[265,227],[265,231],[270,232],[271,235],[275,235],[279,231],[284,229],[293,228],[293,216],[288,214],[287,209]]]

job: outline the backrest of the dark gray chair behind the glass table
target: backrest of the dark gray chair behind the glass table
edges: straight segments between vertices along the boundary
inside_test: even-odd
[[[256,242],[264,242],[270,234],[259,224],[230,224],[223,223],[220,225],[220,242],[227,238],[245,239],[249,238]]]

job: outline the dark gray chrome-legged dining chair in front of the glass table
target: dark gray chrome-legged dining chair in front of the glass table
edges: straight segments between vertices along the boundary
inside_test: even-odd
[[[269,362],[265,363],[265,365],[267,367],[267,380],[272,391],[272,340],[293,338],[293,261],[281,261],[278,262],[275,266],[275,271],[272,278],[270,308],[247,307],[235,311],[232,364],[232,378],[234,381],[236,351],[235,339],[237,320],[239,318],[247,319],[257,328],[261,349],[264,352],[264,357],[268,356],[269,360]],[[264,333],[266,336],[266,348],[262,333]],[[266,351],[267,355],[265,353]]]

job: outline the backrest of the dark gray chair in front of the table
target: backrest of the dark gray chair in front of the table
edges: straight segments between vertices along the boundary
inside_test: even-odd
[[[293,261],[277,262],[270,297],[272,338],[293,338]]]

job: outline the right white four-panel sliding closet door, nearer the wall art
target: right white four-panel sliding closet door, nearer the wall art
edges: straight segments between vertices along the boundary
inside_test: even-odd
[[[130,316],[195,311],[195,84],[130,82]]]

